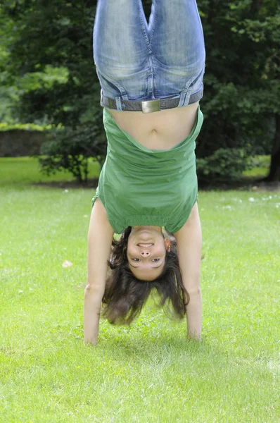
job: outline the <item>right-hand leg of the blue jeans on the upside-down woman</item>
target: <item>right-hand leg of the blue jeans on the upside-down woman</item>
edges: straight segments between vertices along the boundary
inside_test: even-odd
[[[205,47],[196,0],[153,0],[148,34],[155,97],[183,92],[179,106],[202,89]],[[184,95],[185,94],[185,95]]]

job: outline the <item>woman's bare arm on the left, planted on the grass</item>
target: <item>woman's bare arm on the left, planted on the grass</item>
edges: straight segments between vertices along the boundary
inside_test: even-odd
[[[114,231],[101,200],[91,211],[88,234],[87,286],[84,293],[84,343],[96,344]]]

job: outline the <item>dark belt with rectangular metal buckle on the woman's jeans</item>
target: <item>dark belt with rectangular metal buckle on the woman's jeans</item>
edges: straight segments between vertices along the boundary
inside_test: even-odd
[[[189,104],[198,102],[203,97],[203,88],[201,91],[191,94]],[[120,100],[122,111],[142,111],[143,113],[153,113],[164,109],[174,109],[180,101],[180,95],[164,97],[163,99],[147,100],[146,102],[135,102],[134,100]],[[107,109],[116,109],[117,102],[115,99],[105,97],[101,91],[101,106]]]

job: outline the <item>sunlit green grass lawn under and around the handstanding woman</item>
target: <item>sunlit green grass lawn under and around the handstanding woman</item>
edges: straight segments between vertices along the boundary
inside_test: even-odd
[[[150,300],[131,327],[102,320],[91,347],[94,190],[39,179],[34,162],[0,159],[0,422],[279,422],[280,192],[199,193],[201,343]]]

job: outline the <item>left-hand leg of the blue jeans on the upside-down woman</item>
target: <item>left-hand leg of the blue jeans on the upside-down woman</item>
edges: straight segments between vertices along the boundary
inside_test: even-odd
[[[141,0],[99,0],[94,62],[107,97],[137,97],[148,73],[148,26]],[[146,66],[147,63],[147,66]]]

